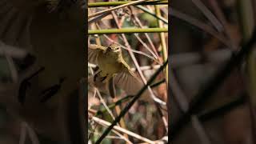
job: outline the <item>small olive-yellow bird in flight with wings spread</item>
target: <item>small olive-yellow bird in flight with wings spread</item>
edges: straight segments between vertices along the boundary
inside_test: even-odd
[[[103,85],[106,88],[110,79],[113,78],[114,84],[126,94],[135,95],[142,89],[144,84],[122,57],[120,45],[112,43],[106,47],[90,44],[88,47],[88,62],[98,66],[93,78],[94,86],[102,87]],[[142,95],[148,94],[146,90]]]

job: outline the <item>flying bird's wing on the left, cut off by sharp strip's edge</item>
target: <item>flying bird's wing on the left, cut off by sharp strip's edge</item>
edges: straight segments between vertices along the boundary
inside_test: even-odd
[[[91,44],[88,46],[88,62],[98,65],[98,52],[106,50],[105,46]]]

